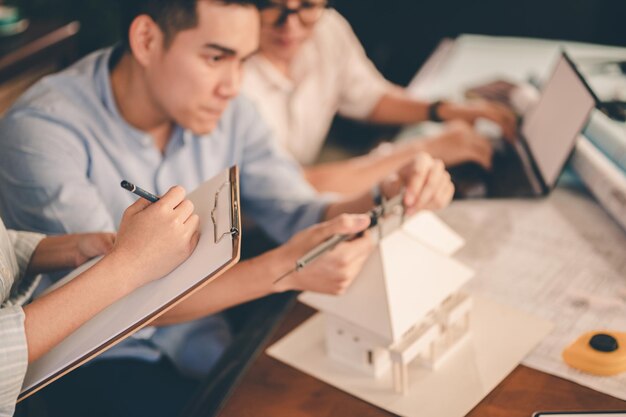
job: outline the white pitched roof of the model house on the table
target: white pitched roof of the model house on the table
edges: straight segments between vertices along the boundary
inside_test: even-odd
[[[437,216],[420,213],[379,242],[345,294],[300,300],[394,343],[473,276],[450,257],[462,245]]]

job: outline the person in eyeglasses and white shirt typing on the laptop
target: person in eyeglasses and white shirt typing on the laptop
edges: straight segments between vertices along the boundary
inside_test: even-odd
[[[270,0],[262,7],[261,22],[260,53],[246,63],[242,92],[320,191],[367,190],[422,151],[447,167],[471,161],[488,169],[492,148],[472,127],[478,118],[495,121],[513,135],[515,116],[502,107],[420,101],[385,80],[348,22],[326,0]],[[337,113],[379,124],[434,120],[445,125],[436,136],[315,165]]]

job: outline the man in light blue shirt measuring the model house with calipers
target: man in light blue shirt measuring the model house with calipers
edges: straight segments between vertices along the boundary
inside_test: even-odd
[[[132,0],[126,6],[123,46],[43,79],[0,122],[0,213],[10,227],[24,230],[115,230],[133,200],[120,180],[162,194],[175,184],[192,190],[239,165],[246,213],[287,243],[240,263],[157,323],[183,324],[142,332],[102,356],[107,362],[166,360],[181,378],[199,377],[228,342],[225,323],[210,314],[273,292],[345,290],[371,250],[367,235],[274,281],[331,235],[364,230],[367,216],[339,215],[365,212],[373,201],[369,193],[346,201],[317,195],[277,149],[255,108],[236,97],[242,63],[258,49],[253,0]],[[453,193],[443,164],[427,155],[381,190],[391,196],[403,185],[409,211],[445,206]],[[325,219],[333,220],[313,226]],[[74,393],[73,402],[95,402],[87,400],[89,384],[77,385],[84,392]],[[150,401],[158,403],[159,396]],[[103,412],[103,404],[92,407],[76,414]],[[112,413],[120,412],[129,411]],[[163,412],[155,406],[146,414]]]

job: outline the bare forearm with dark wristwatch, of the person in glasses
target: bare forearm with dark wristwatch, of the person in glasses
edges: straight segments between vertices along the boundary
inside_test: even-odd
[[[403,125],[428,120],[429,103],[409,97],[403,91],[385,94],[367,118],[373,123]]]

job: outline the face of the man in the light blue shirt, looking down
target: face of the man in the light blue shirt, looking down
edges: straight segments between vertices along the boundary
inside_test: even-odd
[[[198,25],[158,48],[146,68],[153,101],[180,126],[206,134],[240,88],[242,64],[259,47],[256,8],[198,1]]]

